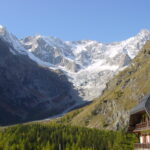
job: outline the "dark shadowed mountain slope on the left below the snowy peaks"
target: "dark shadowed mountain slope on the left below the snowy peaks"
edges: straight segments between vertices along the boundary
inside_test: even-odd
[[[0,125],[50,117],[73,106],[75,91],[66,76],[39,66],[6,34],[0,36]]]

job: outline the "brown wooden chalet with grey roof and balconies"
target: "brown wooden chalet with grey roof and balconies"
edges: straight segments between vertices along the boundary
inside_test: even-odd
[[[138,136],[135,150],[150,150],[150,93],[131,110],[128,131]]]

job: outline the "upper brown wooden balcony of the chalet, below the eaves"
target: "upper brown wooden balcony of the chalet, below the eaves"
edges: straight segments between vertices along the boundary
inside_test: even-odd
[[[134,132],[141,130],[150,130],[150,121],[136,124]]]

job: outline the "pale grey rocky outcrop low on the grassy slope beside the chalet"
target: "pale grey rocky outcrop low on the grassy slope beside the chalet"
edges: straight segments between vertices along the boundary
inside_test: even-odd
[[[93,112],[95,115],[104,116],[105,121],[103,123],[103,128],[105,129],[119,130],[128,126],[130,112],[125,111],[123,106],[118,104],[115,100],[103,101],[101,107]]]

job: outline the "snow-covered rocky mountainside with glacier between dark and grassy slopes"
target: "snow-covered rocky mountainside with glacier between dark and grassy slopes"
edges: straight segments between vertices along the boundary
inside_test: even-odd
[[[83,100],[93,100],[149,39],[150,31],[142,30],[125,41],[109,44],[92,40],[65,42],[41,35],[27,37],[21,43],[48,67],[61,69]]]

